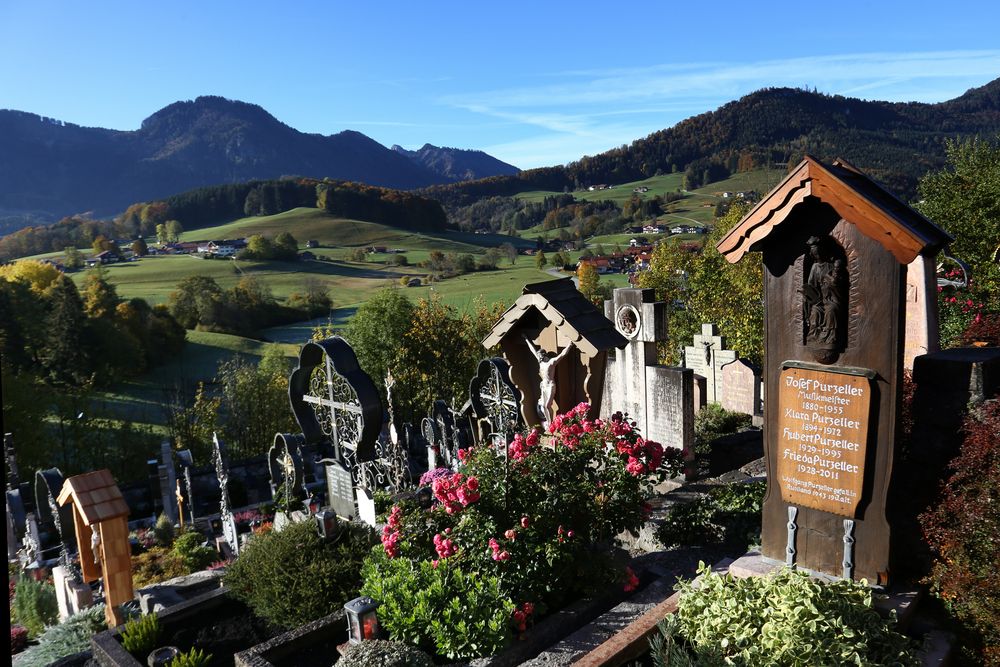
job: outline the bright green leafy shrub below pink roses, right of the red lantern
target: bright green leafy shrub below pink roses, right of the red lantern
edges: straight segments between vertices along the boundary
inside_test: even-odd
[[[459,660],[499,652],[514,604],[497,577],[463,572],[448,559],[411,563],[381,547],[365,561],[362,595],[379,600],[379,622],[398,641]]]

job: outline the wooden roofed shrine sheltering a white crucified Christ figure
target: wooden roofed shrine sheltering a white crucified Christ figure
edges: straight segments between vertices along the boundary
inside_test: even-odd
[[[521,296],[493,325],[483,347],[499,345],[510,363],[510,379],[523,397],[521,415],[529,426],[542,421],[539,361],[528,341],[547,353],[554,365],[554,396],[545,420],[586,401],[592,414],[601,409],[608,350],[628,341],[570,278],[525,285]],[[569,351],[567,347],[571,347]]]

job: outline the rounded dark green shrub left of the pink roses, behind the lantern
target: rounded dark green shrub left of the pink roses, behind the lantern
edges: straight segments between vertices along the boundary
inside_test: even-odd
[[[375,533],[355,523],[329,542],[314,521],[292,524],[253,537],[226,569],[225,585],[261,618],[294,628],[357,596],[361,562],[374,544]]]

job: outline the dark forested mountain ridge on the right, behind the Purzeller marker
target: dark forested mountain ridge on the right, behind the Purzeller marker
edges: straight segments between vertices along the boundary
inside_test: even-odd
[[[701,178],[761,166],[794,166],[809,153],[844,158],[904,199],[945,163],[949,140],[1000,137],[1000,79],[937,104],[881,102],[799,88],[767,88],[688,118],[628,146],[566,166],[429,188],[446,206],[526,190],[625,183],[684,171]],[[704,182],[702,180],[702,182]]]

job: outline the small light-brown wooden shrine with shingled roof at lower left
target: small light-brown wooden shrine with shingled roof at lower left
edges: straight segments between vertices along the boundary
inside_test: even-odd
[[[89,583],[103,577],[108,627],[121,624],[119,605],[134,596],[125,498],[111,472],[97,470],[67,479],[58,502],[73,507],[83,580]]]

